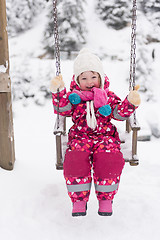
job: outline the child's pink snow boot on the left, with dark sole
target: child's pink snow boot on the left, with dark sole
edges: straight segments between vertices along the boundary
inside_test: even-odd
[[[87,203],[85,201],[79,201],[73,203],[72,216],[85,216],[87,210]]]

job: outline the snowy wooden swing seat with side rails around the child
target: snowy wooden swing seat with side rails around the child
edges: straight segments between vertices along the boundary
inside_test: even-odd
[[[64,156],[67,148],[68,135],[66,133],[66,118],[65,116],[59,115],[59,127],[57,127],[56,121],[53,132],[56,135],[57,170],[63,169]],[[134,123],[133,116],[126,120],[126,132],[123,135],[123,139],[121,139],[121,150],[125,162],[129,162],[131,166],[137,166],[139,164],[137,156],[137,133],[139,130],[140,127],[137,121],[136,124]]]

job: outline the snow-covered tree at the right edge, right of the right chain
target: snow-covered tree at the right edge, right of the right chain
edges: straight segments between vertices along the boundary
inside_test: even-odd
[[[154,97],[154,60],[156,57],[153,43],[160,42],[159,16],[160,2],[155,0],[138,3],[137,18],[137,68],[136,77],[145,92],[147,100]],[[157,14],[158,13],[158,14]],[[159,19],[160,20],[160,19]]]

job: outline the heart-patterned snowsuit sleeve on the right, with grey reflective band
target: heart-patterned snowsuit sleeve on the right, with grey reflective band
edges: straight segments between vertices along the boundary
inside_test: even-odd
[[[126,120],[137,108],[128,101],[127,97],[124,99],[124,101],[121,101],[121,99],[113,92],[109,92],[109,95],[109,101],[112,108],[112,118],[115,120]]]

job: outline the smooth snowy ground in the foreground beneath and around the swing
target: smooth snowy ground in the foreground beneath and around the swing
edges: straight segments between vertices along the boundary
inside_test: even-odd
[[[62,171],[55,169],[52,104],[13,104],[16,163],[0,169],[3,240],[159,238],[159,139],[138,143],[140,165],[127,163],[110,218],[97,214],[94,188],[83,218],[71,217]]]

